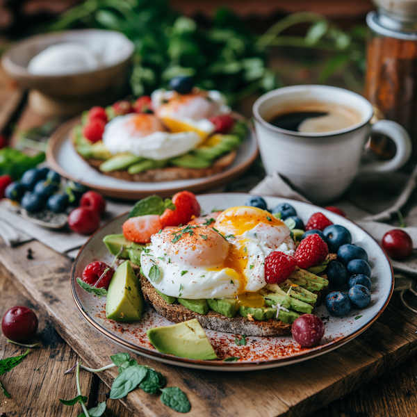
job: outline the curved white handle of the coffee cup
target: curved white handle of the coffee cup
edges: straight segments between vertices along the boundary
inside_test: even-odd
[[[411,156],[411,140],[407,131],[400,124],[391,120],[378,120],[370,130],[370,134],[373,133],[382,133],[382,135],[391,138],[395,142],[397,151],[389,161],[362,164],[359,167],[359,174],[395,171],[408,161]]]

